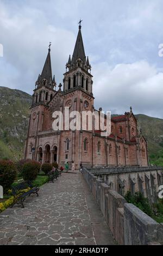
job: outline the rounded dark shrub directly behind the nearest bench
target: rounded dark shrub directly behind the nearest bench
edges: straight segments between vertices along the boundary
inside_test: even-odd
[[[36,179],[37,174],[40,170],[40,163],[36,161],[30,161],[27,163],[24,163],[22,167],[22,177],[25,181],[33,181]]]

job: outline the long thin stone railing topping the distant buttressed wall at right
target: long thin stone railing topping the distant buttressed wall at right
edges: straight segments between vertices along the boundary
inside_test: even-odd
[[[108,168],[87,168],[92,174],[114,174],[114,173],[135,173],[135,172],[151,172],[154,170],[163,170],[163,167],[158,166],[127,166],[127,167],[108,167]]]

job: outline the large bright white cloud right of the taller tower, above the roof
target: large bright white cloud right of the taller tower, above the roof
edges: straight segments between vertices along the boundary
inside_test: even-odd
[[[135,113],[163,118],[163,73],[145,60],[110,68],[100,63],[93,69],[95,106],[124,113],[132,106]],[[101,101],[101,99],[103,99]]]

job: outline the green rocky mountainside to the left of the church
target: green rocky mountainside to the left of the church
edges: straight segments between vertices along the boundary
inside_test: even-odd
[[[23,157],[31,103],[29,94],[0,87],[0,159]]]

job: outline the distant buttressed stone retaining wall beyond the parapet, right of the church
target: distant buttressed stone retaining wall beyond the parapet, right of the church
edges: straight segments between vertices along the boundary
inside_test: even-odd
[[[110,167],[88,170],[121,196],[131,190],[133,193],[141,192],[151,204],[156,203],[159,186],[163,184],[162,167]]]

